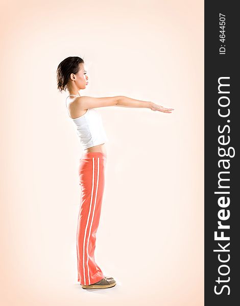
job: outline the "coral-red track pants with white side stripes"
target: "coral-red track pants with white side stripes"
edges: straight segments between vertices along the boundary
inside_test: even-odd
[[[83,152],[79,163],[81,203],[77,230],[78,282],[97,283],[104,278],[95,263],[94,250],[105,185],[107,156],[102,152]]]

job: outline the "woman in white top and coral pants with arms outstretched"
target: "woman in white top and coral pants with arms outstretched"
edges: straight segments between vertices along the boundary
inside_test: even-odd
[[[81,204],[77,230],[78,282],[83,289],[110,288],[116,285],[115,280],[113,277],[105,276],[94,259],[105,184],[107,161],[105,142],[108,141],[102,118],[95,108],[106,106],[149,108],[163,113],[171,113],[174,109],[125,96],[102,98],[81,96],[80,90],[85,89],[87,84],[84,61],[80,57],[68,57],[58,65],[58,89],[60,92],[66,89],[69,92],[66,97],[67,111],[76,124],[84,149],[79,164]]]

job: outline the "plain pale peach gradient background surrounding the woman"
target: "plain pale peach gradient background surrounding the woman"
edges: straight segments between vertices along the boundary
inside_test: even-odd
[[[11,6],[10,6],[11,5]],[[1,3],[3,305],[204,304],[204,2]],[[82,148],[56,86],[82,56],[82,95],[175,108],[99,108],[106,188],[95,259],[117,285],[77,283]]]

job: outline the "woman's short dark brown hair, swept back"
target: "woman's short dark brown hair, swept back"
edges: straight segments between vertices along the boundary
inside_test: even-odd
[[[57,68],[57,85],[58,90],[66,91],[66,85],[69,81],[70,74],[77,74],[79,71],[79,64],[84,64],[84,60],[78,56],[69,56],[63,60]]]

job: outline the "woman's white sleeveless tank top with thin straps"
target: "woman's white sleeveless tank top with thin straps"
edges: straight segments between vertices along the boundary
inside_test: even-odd
[[[66,97],[66,101],[70,95]],[[77,95],[75,96],[77,97]],[[87,112],[84,115],[71,119],[76,124],[76,132],[84,150],[108,141],[108,137],[103,126],[102,117],[95,109],[87,109]]]

